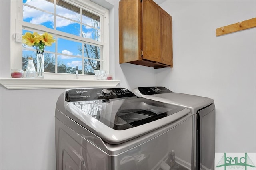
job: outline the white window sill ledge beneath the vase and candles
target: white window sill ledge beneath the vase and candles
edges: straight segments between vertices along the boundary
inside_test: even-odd
[[[116,87],[119,82],[120,80],[0,78],[0,83],[10,90]]]

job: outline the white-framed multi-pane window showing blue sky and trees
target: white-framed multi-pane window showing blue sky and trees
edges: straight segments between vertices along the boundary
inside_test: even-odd
[[[108,10],[88,0],[17,0],[13,6],[15,36],[48,32],[56,40],[44,51],[45,78],[74,77],[76,66],[85,79],[94,70],[108,70]],[[36,67],[35,47],[17,39],[13,43],[12,68],[25,71],[28,57],[34,58]]]

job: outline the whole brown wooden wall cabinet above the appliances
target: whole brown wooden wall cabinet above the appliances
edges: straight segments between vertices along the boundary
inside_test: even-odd
[[[154,1],[119,2],[119,63],[172,67],[172,16]]]

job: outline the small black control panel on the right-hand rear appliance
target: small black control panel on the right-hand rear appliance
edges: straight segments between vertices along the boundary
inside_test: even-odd
[[[155,87],[138,87],[138,90],[142,95],[156,95],[162,93],[172,93],[169,89],[161,86]]]

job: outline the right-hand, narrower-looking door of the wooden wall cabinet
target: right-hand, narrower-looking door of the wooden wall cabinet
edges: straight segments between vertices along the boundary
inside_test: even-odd
[[[172,67],[172,16],[162,10],[162,61]]]

